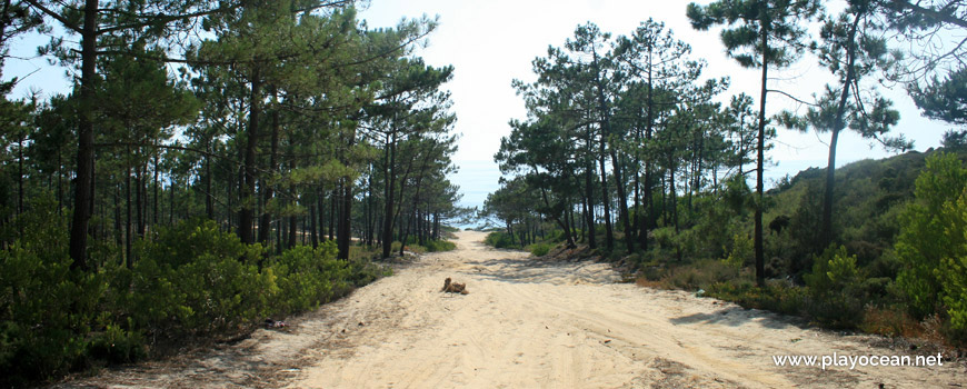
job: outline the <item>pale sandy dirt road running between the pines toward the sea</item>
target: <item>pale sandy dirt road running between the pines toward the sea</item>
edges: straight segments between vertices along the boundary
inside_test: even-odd
[[[537,261],[458,233],[289,332],[107,372],[69,387],[963,388],[943,367],[777,367],[772,356],[903,356],[866,337],[681,291],[616,283],[606,265]],[[469,295],[442,293],[443,279]],[[913,352],[913,351],[911,351]]]

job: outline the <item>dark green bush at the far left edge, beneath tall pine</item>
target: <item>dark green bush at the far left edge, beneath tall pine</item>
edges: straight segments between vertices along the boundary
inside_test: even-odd
[[[14,222],[23,235],[0,251],[0,385],[61,375],[84,365],[88,332],[107,270],[70,269],[67,216],[49,196]]]

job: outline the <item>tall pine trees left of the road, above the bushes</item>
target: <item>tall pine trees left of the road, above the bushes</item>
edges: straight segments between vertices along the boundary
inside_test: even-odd
[[[52,192],[77,269],[118,255],[91,251],[104,245],[130,266],[136,240],[199,216],[278,252],[335,239],[347,259],[352,237],[386,257],[456,215],[456,117],[440,90],[453,69],[412,56],[435,20],[370,29],[351,1],[319,0],[2,10],[0,43],[50,34],[40,52],[74,78],[68,94],[4,99],[0,222]]]

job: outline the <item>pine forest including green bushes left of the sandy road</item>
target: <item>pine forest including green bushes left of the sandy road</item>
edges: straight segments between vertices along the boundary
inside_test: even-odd
[[[0,86],[0,385],[243,336],[388,275],[372,259],[452,248],[453,68],[413,54],[437,23],[370,29],[342,0],[4,0],[3,58],[47,34],[73,83]]]

